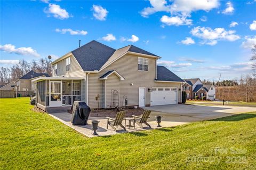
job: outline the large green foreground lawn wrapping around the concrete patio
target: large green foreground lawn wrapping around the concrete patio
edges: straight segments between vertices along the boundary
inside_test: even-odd
[[[31,108],[28,98],[0,99],[1,169],[256,167],[256,112],[173,128],[87,138]]]

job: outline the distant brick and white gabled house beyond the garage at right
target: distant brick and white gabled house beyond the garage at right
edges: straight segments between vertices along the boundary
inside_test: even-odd
[[[182,91],[187,92],[187,99],[195,99],[198,96],[202,99],[206,96],[206,99],[215,99],[215,87],[214,85],[204,85],[199,78],[184,79],[185,83],[182,85]]]

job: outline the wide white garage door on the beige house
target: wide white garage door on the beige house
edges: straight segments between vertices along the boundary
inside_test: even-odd
[[[153,87],[150,92],[150,105],[177,104],[177,88]]]

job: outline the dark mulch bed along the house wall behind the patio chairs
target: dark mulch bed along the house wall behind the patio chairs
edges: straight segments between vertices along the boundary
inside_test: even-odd
[[[125,117],[132,117],[132,115],[135,116],[139,116],[142,115],[143,113],[143,109],[138,108],[138,109],[134,109],[132,108],[122,108],[122,109],[100,109],[100,113],[98,112],[98,109],[92,109],[90,112],[90,116],[91,117],[116,117],[116,113],[118,111],[123,111],[123,110],[127,110]],[[68,110],[69,114],[72,114],[72,110]]]

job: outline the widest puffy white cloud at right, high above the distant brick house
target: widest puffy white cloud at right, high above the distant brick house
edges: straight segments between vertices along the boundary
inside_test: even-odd
[[[201,44],[207,45],[215,45],[218,41],[226,40],[226,41],[236,41],[240,39],[240,36],[236,35],[236,31],[234,30],[225,30],[224,28],[209,28],[209,27],[195,27],[190,33],[198,38],[203,39]]]

